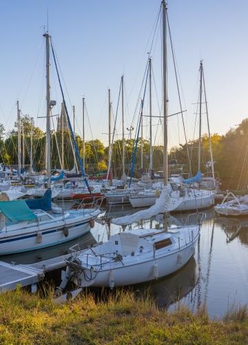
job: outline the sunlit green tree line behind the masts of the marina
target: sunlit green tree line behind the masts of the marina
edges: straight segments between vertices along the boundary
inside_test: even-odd
[[[37,126],[28,115],[21,119],[21,160],[25,166],[30,165],[31,146],[34,170],[41,171],[45,168],[45,133]],[[83,157],[83,141],[79,135],[75,135],[79,153]],[[74,166],[74,155],[70,134],[64,132],[64,168],[70,170]],[[24,143],[24,144],[23,144]],[[32,143],[32,144],[31,144]],[[0,154],[4,164],[17,166],[18,164],[18,135],[17,124],[12,131],[6,133],[3,125],[0,125]],[[132,155],[134,154],[134,139],[125,139],[125,172],[128,175],[131,168]],[[122,140],[114,141],[112,145],[112,174],[114,177],[122,175]],[[222,188],[246,189],[248,185],[248,119],[236,128],[231,128],[225,135],[211,135],[211,146],[214,156],[214,170],[220,177]],[[23,153],[24,148],[24,153]],[[61,132],[51,133],[51,159],[52,168],[61,168],[62,135]],[[209,137],[203,135],[201,139],[201,170],[205,174],[211,172],[209,165]],[[143,172],[149,169],[149,141],[143,139]],[[59,153],[58,153],[59,151]],[[163,146],[154,146],[153,168],[163,169]],[[189,152],[189,157],[187,155]],[[85,142],[85,170],[88,174],[105,172],[107,170],[109,150],[99,139]],[[180,144],[169,150],[169,163],[182,164],[185,175],[191,166],[192,175],[198,170],[198,139]],[[141,138],[138,139],[136,150],[135,176],[141,176]]]

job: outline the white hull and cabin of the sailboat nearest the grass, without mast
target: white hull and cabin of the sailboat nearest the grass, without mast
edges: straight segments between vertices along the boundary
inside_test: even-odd
[[[110,236],[79,255],[72,254],[59,290],[71,280],[77,286],[127,286],[165,277],[194,255],[199,226],[136,229]],[[73,252],[72,252],[73,253]]]

